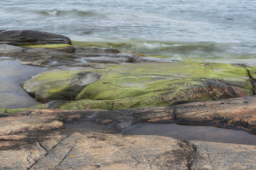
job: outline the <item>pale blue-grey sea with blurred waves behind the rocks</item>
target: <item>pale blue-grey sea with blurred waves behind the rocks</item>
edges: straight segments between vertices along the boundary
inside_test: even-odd
[[[256,1],[1,0],[0,29],[181,61],[256,65]]]

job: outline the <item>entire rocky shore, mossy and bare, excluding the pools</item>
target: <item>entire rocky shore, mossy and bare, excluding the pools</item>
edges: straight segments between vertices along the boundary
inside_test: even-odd
[[[256,169],[254,145],[122,134],[142,122],[256,134],[255,66],[73,46],[29,30],[0,30],[0,60],[47,67],[22,83],[44,104],[0,108],[1,169]],[[110,128],[65,129],[79,120]]]

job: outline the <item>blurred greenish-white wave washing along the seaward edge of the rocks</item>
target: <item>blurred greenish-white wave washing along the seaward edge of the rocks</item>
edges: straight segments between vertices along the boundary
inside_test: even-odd
[[[249,63],[256,62],[256,53],[235,43],[219,42],[177,42],[136,40],[127,41],[73,41],[73,45],[115,48],[123,52],[141,53],[159,58],[181,61]]]

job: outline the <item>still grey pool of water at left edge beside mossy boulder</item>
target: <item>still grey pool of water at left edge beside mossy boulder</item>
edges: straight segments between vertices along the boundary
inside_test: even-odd
[[[0,108],[27,108],[40,104],[20,87],[20,83],[44,70],[46,68],[22,65],[18,61],[0,61]]]

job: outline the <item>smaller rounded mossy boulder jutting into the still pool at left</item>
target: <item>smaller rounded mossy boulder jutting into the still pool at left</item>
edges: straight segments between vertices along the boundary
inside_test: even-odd
[[[74,100],[82,88],[98,79],[89,69],[81,71],[51,70],[36,75],[22,84],[28,94],[38,101]]]

